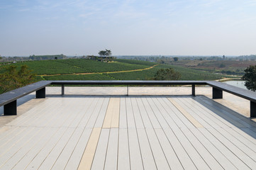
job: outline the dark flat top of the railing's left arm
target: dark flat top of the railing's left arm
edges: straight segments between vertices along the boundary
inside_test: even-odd
[[[38,81],[34,84],[29,84],[28,86],[23,86],[19,89],[15,89],[13,91],[8,91],[4,94],[0,94],[0,106],[4,106],[7,103],[16,101],[18,98],[26,96],[39,89],[42,89],[45,86],[49,86],[50,84],[51,81]]]

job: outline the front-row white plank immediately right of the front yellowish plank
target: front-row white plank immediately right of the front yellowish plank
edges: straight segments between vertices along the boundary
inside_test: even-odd
[[[98,146],[94,155],[94,162],[92,162],[91,170],[104,169],[106,159],[106,149],[108,148],[108,136],[110,129],[102,129],[99,137]]]

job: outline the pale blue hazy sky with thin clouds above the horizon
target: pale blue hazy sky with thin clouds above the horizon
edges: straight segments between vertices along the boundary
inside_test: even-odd
[[[0,55],[256,55],[256,0],[0,0]]]

